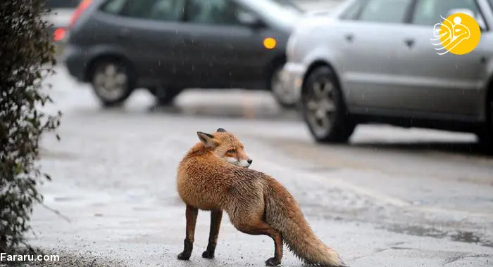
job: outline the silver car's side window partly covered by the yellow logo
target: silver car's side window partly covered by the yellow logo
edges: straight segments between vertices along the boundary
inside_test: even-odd
[[[477,18],[480,16],[475,0],[418,0],[411,22],[416,25],[433,26],[441,22],[442,18],[447,18],[449,11],[458,8],[467,8],[473,11]]]

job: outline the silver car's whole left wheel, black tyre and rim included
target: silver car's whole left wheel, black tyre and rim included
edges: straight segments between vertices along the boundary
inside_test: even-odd
[[[308,74],[301,93],[301,112],[318,142],[347,142],[356,127],[347,115],[335,74],[327,66]]]

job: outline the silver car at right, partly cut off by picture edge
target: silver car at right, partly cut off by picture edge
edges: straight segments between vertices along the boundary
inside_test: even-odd
[[[435,25],[458,13],[475,18],[479,44],[442,54]],[[299,22],[282,81],[316,141],[345,142],[357,124],[381,122],[473,132],[490,144],[492,30],[493,0],[349,0]]]

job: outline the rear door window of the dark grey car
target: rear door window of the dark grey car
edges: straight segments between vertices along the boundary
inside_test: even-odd
[[[177,21],[185,0],[127,0],[123,15],[149,20]]]

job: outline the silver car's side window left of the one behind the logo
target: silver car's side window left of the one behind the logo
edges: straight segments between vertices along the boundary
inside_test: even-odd
[[[382,23],[402,23],[411,0],[369,0],[358,20]]]

